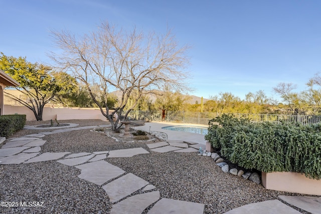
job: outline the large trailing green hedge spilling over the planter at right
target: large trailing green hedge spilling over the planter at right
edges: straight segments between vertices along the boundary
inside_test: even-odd
[[[209,122],[205,139],[246,169],[292,171],[321,178],[321,124],[253,123],[222,115]]]

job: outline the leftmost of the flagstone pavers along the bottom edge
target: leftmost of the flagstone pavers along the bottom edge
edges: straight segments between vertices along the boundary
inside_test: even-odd
[[[113,204],[110,210],[110,214],[141,214],[147,206],[154,203],[158,199],[159,191],[133,195],[116,204]]]

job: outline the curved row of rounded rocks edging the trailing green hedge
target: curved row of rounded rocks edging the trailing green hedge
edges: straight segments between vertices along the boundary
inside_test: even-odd
[[[206,157],[211,157],[216,165],[221,167],[222,171],[228,172],[230,174],[233,174],[238,177],[243,177],[244,179],[251,180],[257,184],[261,183],[261,178],[258,173],[256,172],[246,172],[244,173],[243,169],[237,170],[237,168],[230,167],[226,162],[224,162],[224,159],[216,152],[207,152],[206,150],[202,151],[203,153],[199,153],[198,155],[203,155]]]

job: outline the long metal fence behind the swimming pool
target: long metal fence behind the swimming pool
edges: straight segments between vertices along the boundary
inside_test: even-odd
[[[208,125],[209,120],[219,114],[214,112],[171,112],[167,111],[165,121],[176,123],[194,123]],[[316,115],[285,115],[285,114],[233,114],[237,118],[250,119],[253,122],[299,122],[302,124],[317,123],[321,116]],[[133,120],[162,121],[162,111],[131,111],[128,117]]]

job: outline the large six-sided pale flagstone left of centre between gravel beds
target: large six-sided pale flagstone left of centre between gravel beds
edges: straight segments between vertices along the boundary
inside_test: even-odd
[[[98,185],[102,185],[108,180],[125,173],[125,171],[121,168],[107,163],[104,160],[85,163],[76,166],[76,168],[81,169],[81,174],[78,175],[79,178],[88,180]]]

